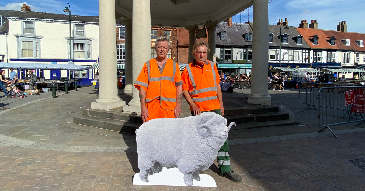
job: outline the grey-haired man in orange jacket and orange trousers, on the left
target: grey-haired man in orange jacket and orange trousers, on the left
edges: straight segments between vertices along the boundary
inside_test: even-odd
[[[178,64],[167,58],[169,36],[155,41],[157,57],[147,61],[134,83],[139,90],[143,123],[155,118],[177,118],[181,113],[183,81]]]

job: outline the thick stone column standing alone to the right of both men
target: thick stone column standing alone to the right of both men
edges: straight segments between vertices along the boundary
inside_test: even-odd
[[[268,92],[268,1],[253,0],[253,38],[252,38],[252,69],[251,94],[247,103],[271,105]]]

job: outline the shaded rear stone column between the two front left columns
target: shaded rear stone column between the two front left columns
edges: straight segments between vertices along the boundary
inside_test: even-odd
[[[132,80],[132,21],[124,21],[123,24],[126,26],[126,59],[125,59],[125,75],[126,78],[124,83],[124,93],[132,93],[133,80]]]

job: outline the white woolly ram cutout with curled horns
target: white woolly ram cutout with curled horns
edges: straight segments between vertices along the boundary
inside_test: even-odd
[[[187,186],[199,181],[199,169],[207,170],[227,140],[227,119],[213,112],[186,118],[160,118],[144,123],[136,130],[139,178],[149,182],[147,175],[162,167],[178,168]]]

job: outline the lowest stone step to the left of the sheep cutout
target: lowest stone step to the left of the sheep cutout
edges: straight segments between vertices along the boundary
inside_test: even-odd
[[[139,123],[87,115],[79,115],[77,117],[74,117],[73,123],[129,134],[135,134],[135,130],[138,129],[139,126],[141,126],[141,124]]]

